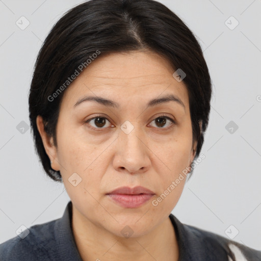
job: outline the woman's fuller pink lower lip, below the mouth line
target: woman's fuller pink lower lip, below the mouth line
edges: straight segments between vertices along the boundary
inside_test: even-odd
[[[108,194],[108,196],[122,207],[136,208],[143,205],[145,202],[151,199],[154,196],[154,194]]]

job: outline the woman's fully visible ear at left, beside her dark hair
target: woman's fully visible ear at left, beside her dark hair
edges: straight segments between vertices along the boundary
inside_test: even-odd
[[[46,154],[48,155],[51,164],[51,168],[58,171],[60,170],[60,164],[57,159],[57,148],[54,145],[53,137],[50,137],[45,131],[44,131],[44,124],[43,119],[40,115],[36,118],[36,125],[38,128],[38,132],[40,133],[40,136],[42,138],[43,146],[45,149]]]

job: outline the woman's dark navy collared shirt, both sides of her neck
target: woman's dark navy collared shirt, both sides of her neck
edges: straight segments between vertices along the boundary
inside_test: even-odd
[[[179,261],[261,260],[261,251],[213,232],[182,224],[173,214],[169,218],[176,232]],[[82,261],[73,238],[71,220],[72,202],[69,201],[60,219],[34,225],[29,228],[26,237],[23,235],[25,230],[19,236],[0,244],[0,260]]]

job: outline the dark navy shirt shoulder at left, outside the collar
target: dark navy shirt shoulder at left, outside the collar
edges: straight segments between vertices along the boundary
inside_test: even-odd
[[[52,259],[55,248],[55,222],[34,225],[18,236],[0,244],[1,261],[30,261]]]

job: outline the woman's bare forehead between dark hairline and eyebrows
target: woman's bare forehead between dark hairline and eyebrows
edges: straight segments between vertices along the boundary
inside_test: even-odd
[[[132,99],[141,102],[173,93],[188,106],[188,93],[183,82],[172,76],[174,69],[162,56],[151,51],[113,53],[96,58],[70,84],[63,102],[73,107],[79,98],[92,96]]]

